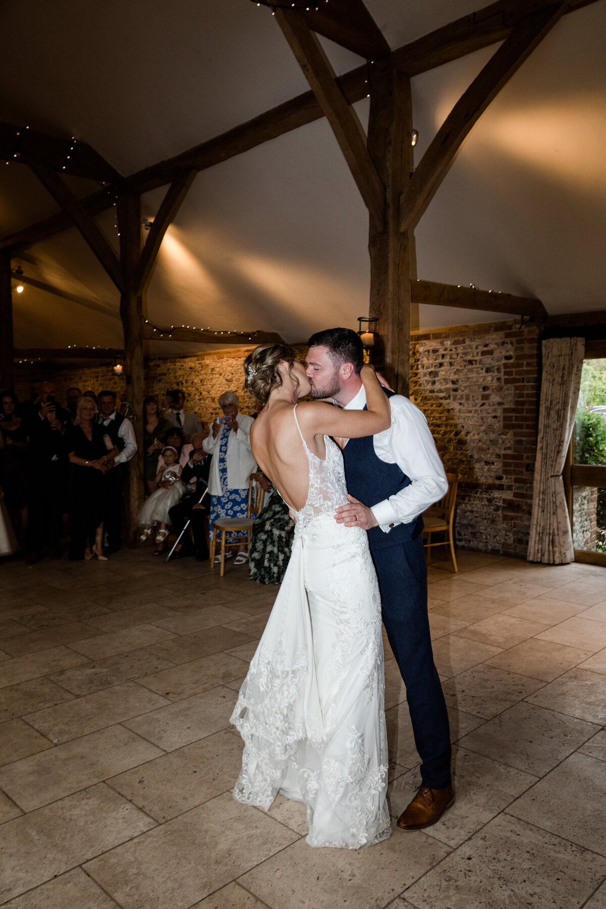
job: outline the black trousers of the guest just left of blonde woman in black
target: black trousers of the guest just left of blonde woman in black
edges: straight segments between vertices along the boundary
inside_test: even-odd
[[[27,545],[42,554],[45,545],[58,549],[66,501],[65,461],[35,464],[28,473]]]

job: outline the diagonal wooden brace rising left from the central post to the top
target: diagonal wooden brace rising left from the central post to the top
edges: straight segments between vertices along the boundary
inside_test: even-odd
[[[275,18],[310,84],[323,114],[333,128],[345,160],[377,230],[385,223],[385,189],[366,147],[358,115],[343,95],[333,67],[317,35],[297,9],[276,9]]]

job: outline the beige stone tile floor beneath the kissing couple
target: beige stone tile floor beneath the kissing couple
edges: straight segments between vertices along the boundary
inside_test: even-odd
[[[233,801],[228,720],[276,593],[229,565],[0,568],[0,904],[606,909],[606,569],[462,552],[430,569],[457,803],[361,852],[300,804]],[[419,784],[386,649],[390,804]]]

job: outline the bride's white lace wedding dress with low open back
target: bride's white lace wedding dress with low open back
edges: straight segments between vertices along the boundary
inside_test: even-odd
[[[324,436],[323,461],[301,438],[309,493],[233,710],[244,740],[233,796],[265,810],[278,792],[304,802],[309,845],[359,849],[392,832],[381,602],[365,531],[334,520],[343,456]]]

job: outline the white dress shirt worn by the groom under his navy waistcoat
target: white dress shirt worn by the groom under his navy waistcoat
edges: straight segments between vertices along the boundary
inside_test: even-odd
[[[374,454],[385,464],[397,464],[411,484],[382,502],[370,504],[382,531],[389,534],[397,524],[410,524],[419,514],[438,502],[448,490],[448,480],[427,420],[418,407],[403,395],[392,395],[392,425],[373,435]],[[364,386],[343,410],[363,410]]]

